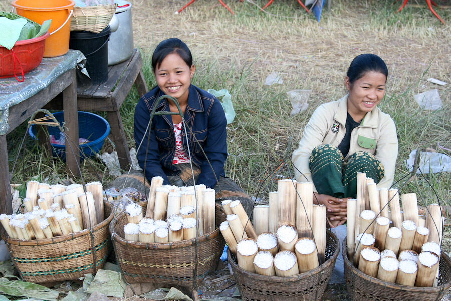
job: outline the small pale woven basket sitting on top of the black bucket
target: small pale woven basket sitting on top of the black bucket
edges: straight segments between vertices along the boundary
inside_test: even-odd
[[[116,13],[116,6],[117,4],[74,7],[71,31],[86,30],[96,34],[100,33],[108,26],[111,17]]]

